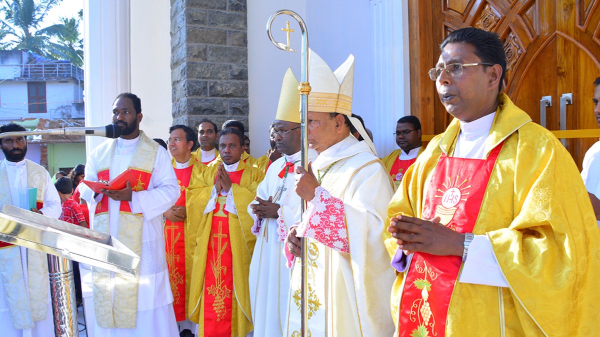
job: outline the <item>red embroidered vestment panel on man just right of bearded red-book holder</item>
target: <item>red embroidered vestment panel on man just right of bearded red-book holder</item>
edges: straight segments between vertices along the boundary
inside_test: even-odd
[[[185,188],[190,185],[191,171],[194,166],[175,169],[177,183],[181,189],[179,199],[175,203],[185,207]],[[164,224],[164,240],[169,267],[169,281],[173,291],[173,309],[175,319],[183,321],[185,315],[185,221],[172,222],[167,219]]]

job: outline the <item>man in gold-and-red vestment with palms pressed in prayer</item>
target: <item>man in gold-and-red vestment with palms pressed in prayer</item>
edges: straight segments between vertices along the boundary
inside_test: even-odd
[[[194,166],[188,222],[198,224],[188,312],[199,336],[245,336],[252,330],[248,269],[256,242],[248,204],[263,173],[242,160],[244,136],[219,133],[218,166]]]

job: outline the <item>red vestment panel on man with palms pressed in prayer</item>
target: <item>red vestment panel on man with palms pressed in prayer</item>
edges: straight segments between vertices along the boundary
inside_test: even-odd
[[[244,170],[228,172],[229,179],[239,185],[242,173]],[[205,336],[231,336],[233,255],[229,240],[229,212],[225,210],[226,200],[226,195],[219,194],[212,212],[211,236],[206,254],[208,266],[204,278]]]

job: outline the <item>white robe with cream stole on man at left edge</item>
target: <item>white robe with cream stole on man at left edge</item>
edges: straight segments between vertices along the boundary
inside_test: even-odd
[[[11,204],[29,210],[30,188],[37,188],[35,207],[58,219],[61,200],[48,171],[27,159],[17,163],[0,161],[0,207]],[[54,336],[46,255],[0,242],[2,336]]]

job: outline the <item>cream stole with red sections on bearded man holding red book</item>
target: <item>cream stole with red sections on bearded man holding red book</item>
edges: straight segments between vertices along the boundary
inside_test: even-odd
[[[109,179],[110,163],[115,153],[116,139],[98,146],[98,179]],[[140,131],[136,149],[133,152],[129,169],[138,175],[138,183],[131,186],[133,191],[148,188],[158,143]],[[142,256],[142,225],[144,217],[141,213],[131,213],[129,203],[121,201],[119,209],[118,238],[125,246]],[[109,202],[103,195],[94,215],[94,230],[110,234]],[[111,273],[108,270],[92,269],[94,279],[94,311],[100,327],[134,329],[137,322],[137,296],[139,274],[136,276]],[[111,277],[113,275],[113,277]]]

